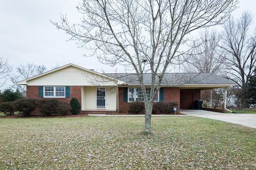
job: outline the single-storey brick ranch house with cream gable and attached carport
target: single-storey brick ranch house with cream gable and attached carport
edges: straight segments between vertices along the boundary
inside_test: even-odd
[[[150,84],[150,74],[144,83]],[[77,98],[83,113],[129,113],[129,102],[141,101],[134,73],[101,74],[75,64],[36,75],[18,84],[27,86],[28,98]],[[166,73],[155,101],[177,101],[180,109],[191,109],[201,90],[229,87],[229,80],[208,73]],[[118,88],[117,88],[118,87]],[[150,88],[146,89],[150,92]]]

